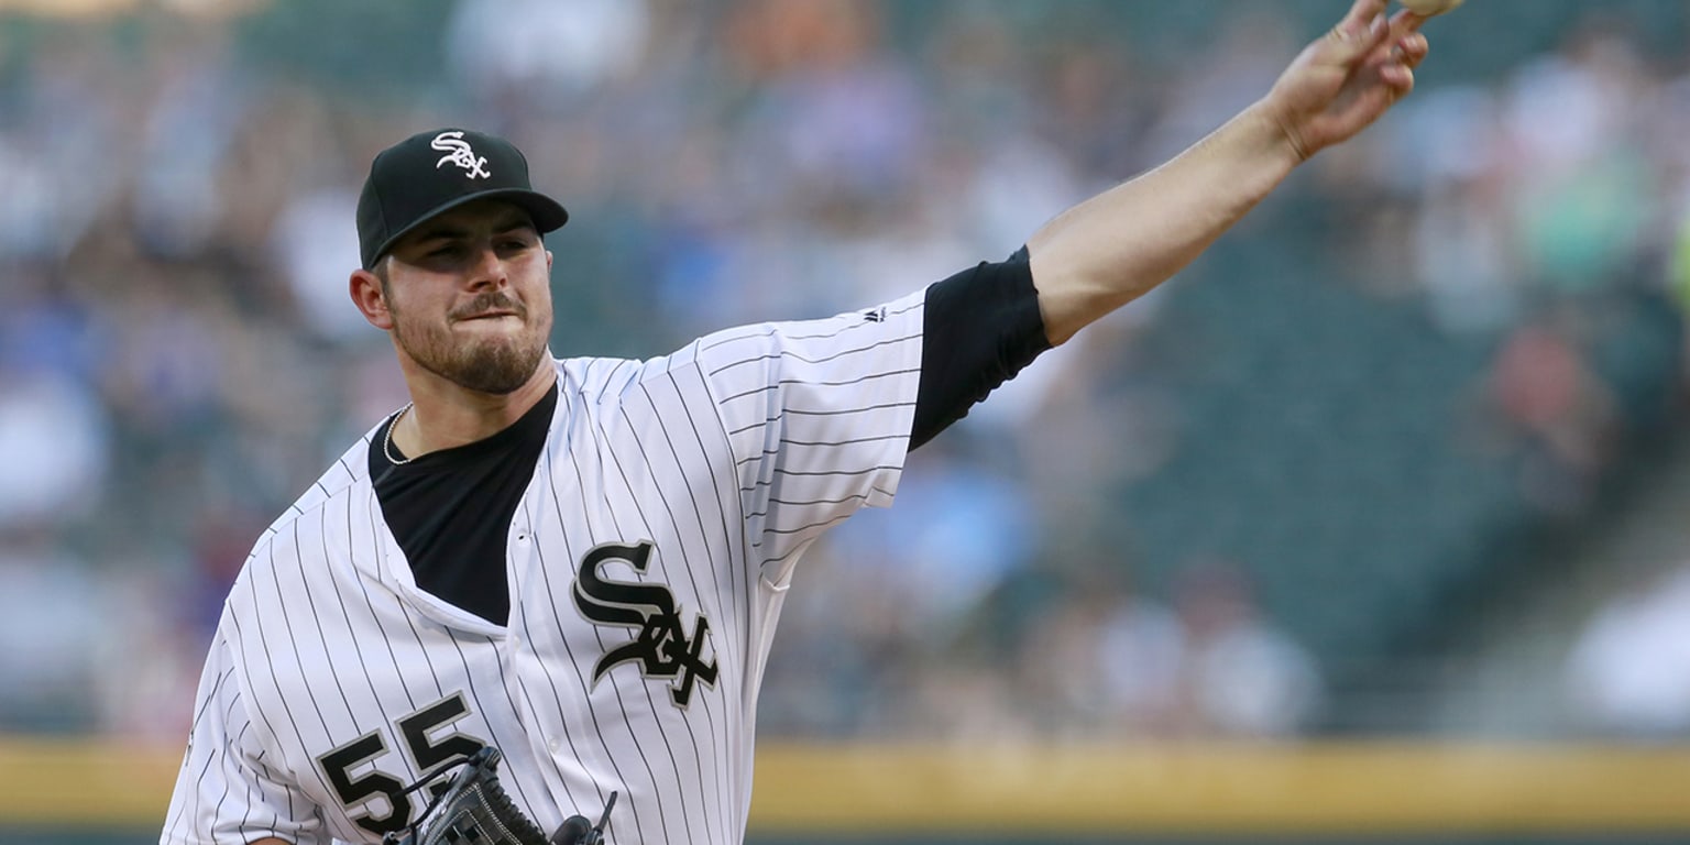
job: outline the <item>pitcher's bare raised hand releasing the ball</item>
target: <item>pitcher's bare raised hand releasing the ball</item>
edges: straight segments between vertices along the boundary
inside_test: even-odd
[[[1426,57],[1426,19],[1389,0],[1355,0],[1332,32],[1310,44],[1262,100],[1300,159],[1342,144],[1367,128],[1415,88]]]

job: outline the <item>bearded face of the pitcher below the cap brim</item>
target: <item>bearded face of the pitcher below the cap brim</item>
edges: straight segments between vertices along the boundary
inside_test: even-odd
[[[521,208],[446,211],[390,250],[394,343],[424,370],[483,394],[522,387],[551,335],[551,254]]]

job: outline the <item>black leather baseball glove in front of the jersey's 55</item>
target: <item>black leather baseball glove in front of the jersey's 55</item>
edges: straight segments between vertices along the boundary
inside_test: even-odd
[[[600,845],[603,842],[610,808],[617,803],[615,793],[610,793],[605,816],[597,828],[581,816],[570,816],[551,838],[546,838],[499,786],[500,757],[499,749],[487,745],[453,764],[460,769],[446,789],[429,801],[414,825],[382,837],[382,845]],[[422,777],[406,793],[421,789],[439,774],[444,772]]]

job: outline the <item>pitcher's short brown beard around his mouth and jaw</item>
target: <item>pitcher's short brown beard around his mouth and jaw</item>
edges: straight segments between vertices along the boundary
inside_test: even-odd
[[[485,311],[514,311],[522,330],[514,335],[456,338],[450,324]],[[546,326],[529,321],[529,309],[505,294],[482,294],[439,324],[406,324],[394,311],[394,343],[424,370],[482,394],[505,395],[534,377],[546,355]]]

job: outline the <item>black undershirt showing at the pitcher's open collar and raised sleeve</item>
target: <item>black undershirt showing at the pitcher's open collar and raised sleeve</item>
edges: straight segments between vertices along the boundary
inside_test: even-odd
[[[911,450],[962,419],[968,407],[1049,348],[1028,250],[928,287],[921,331]],[[546,448],[556,407],[553,385],[510,428],[402,465],[387,460],[382,450],[397,414],[375,431],[370,446],[375,497],[419,588],[488,622],[507,624],[510,519]],[[397,446],[392,451],[404,458]]]

